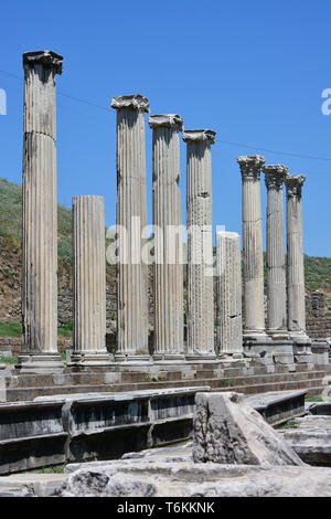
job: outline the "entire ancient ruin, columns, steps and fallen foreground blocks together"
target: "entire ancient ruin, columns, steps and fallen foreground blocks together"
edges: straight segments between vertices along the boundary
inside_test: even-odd
[[[55,76],[62,63],[52,51],[23,54],[23,343],[12,370],[0,364],[0,474],[72,463],[63,496],[310,495],[318,485],[330,496],[330,469],[323,476],[306,466],[299,454],[301,436],[288,433],[290,444],[267,423],[301,416],[305,395],[320,394],[329,380],[330,345],[312,340],[306,329],[306,178],[289,174],[285,165],[266,165],[260,155],[239,156],[243,252],[237,233],[217,231],[214,258],[216,133],[186,129],[178,114],[149,115],[150,235],[145,148],[150,107],[140,94],[111,100],[117,130],[116,353],[106,345],[104,199],[77,194],[72,209],[74,342],[66,361],[61,359]],[[179,186],[181,134],[186,146],[185,225]],[[261,173],[267,189],[266,290]],[[149,343],[151,257],[154,324]],[[279,396],[289,389],[301,391]],[[249,405],[238,392],[264,393],[265,400]],[[308,422],[307,428],[313,421]],[[314,423],[321,427],[320,421]],[[188,441],[192,431],[190,452],[162,453],[153,481],[150,448]],[[140,454],[128,455],[130,451]],[[73,465],[96,454],[127,457],[105,466]],[[141,463],[130,462],[135,456]],[[181,474],[180,484],[175,474]],[[297,494],[289,490],[292,477]],[[307,484],[311,478],[313,487]]]

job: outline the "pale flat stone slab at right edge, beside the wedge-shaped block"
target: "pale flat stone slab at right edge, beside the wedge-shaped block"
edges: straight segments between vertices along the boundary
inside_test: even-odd
[[[303,462],[331,466],[331,416],[295,419],[291,427],[281,433]]]

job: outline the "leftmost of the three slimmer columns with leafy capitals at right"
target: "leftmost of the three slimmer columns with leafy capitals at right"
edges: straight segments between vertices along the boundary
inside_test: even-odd
[[[237,158],[243,180],[244,341],[264,347],[264,251],[260,206],[260,155]]]

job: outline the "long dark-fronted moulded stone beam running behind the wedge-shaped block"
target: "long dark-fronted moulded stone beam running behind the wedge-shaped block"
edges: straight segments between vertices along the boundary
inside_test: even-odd
[[[183,442],[192,437],[197,391],[210,388],[55,394],[0,404],[0,474],[116,459],[130,451]],[[305,394],[265,393],[247,402],[274,424],[302,415]]]

